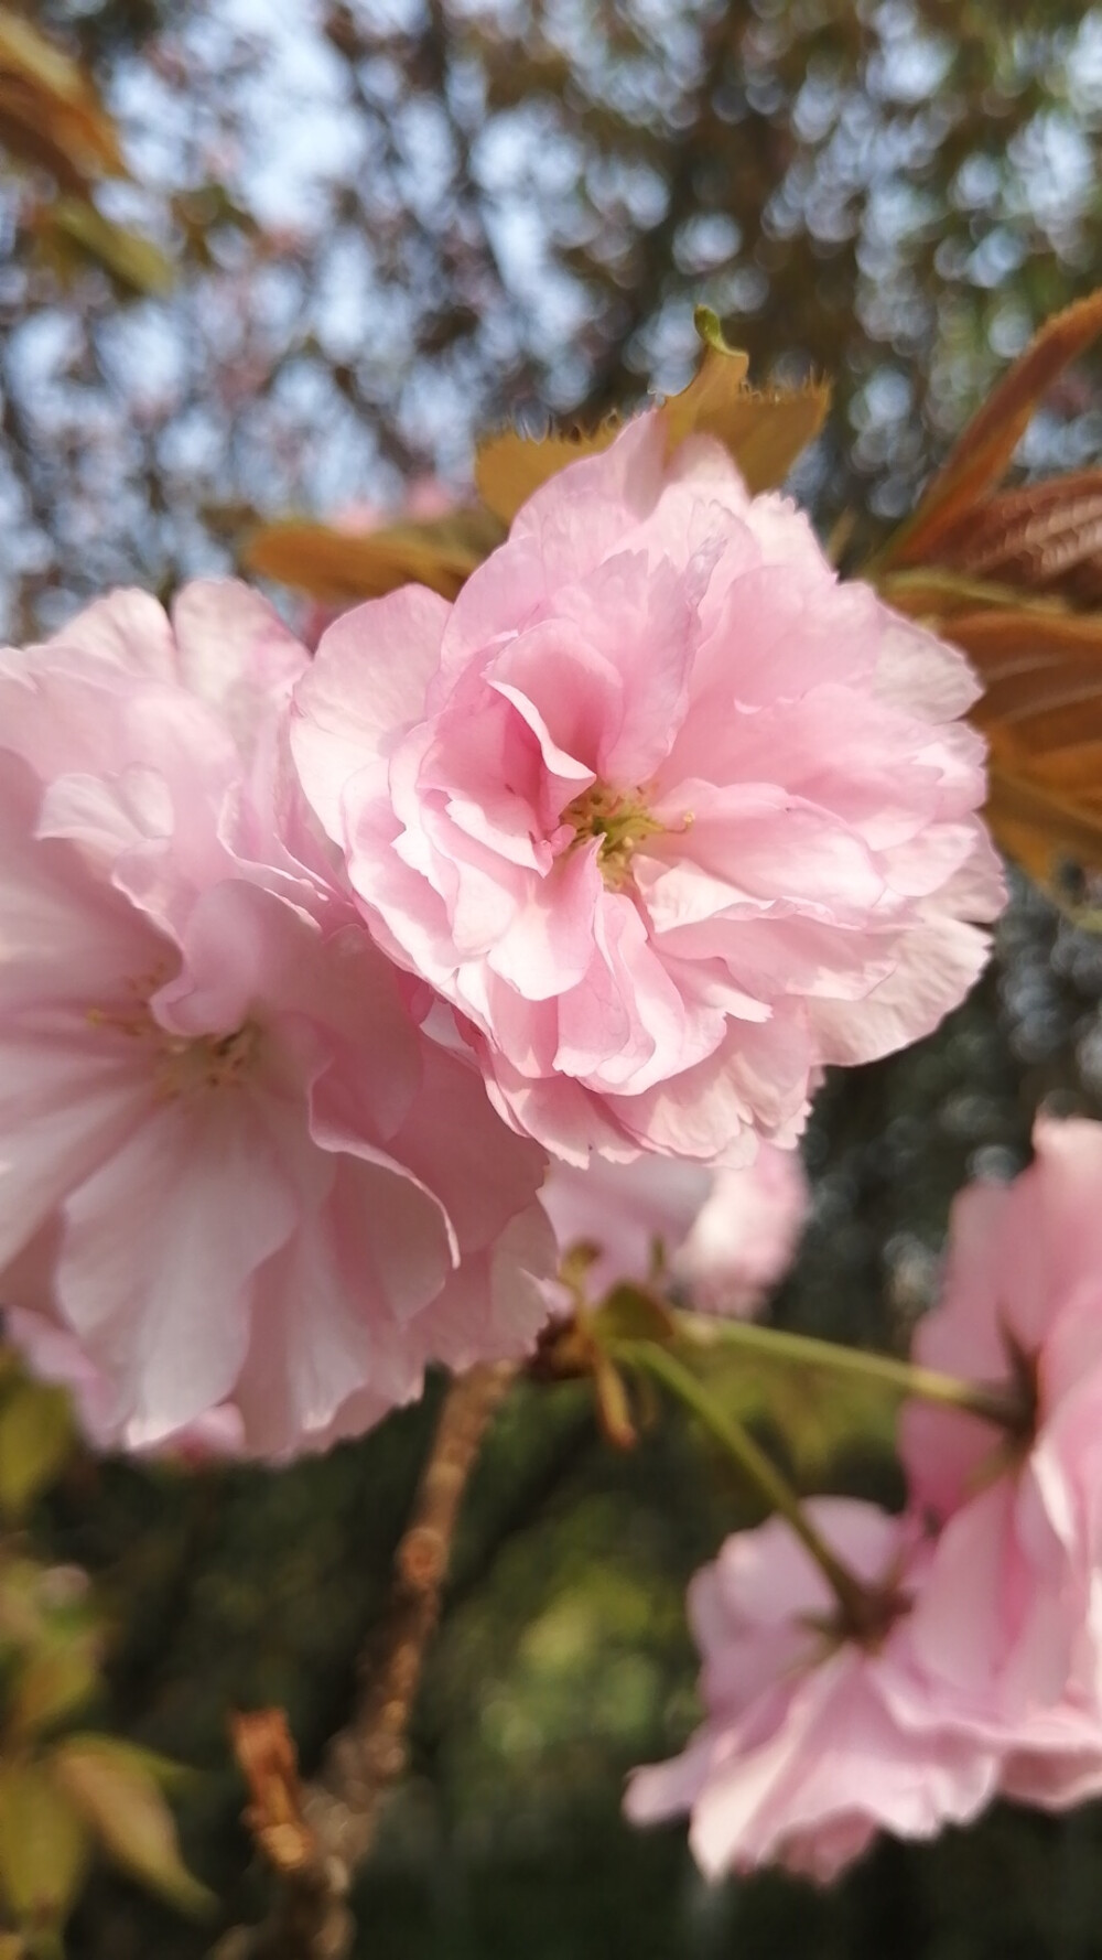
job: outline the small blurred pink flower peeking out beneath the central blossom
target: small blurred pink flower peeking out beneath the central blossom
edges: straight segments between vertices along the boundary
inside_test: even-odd
[[[559,1252],[594,1247],[586,1294],[620,1280],[680,1286],[710,1313],[753,1313],[784,1276],[808,1207],[794,1151],[759,1145],[753,1164],[708,1172],[669,1156],[588,1170],[551,1164],[541,1192]]]

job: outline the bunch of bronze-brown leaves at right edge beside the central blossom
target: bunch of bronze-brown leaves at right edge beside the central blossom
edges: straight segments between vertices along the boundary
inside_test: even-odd
[[[1045,388],[1100,333],[1102,290],[1041,327],[871,566],[890,604],[975,662],[990,827],[1057,892],[1069,868],[1102,868],[1102,470],[998,482]]]

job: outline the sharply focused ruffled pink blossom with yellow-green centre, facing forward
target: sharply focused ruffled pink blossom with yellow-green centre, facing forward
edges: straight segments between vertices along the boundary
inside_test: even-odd
[[[790,1145],[824,1062],[926,1035],[1002,904],[965,661],[704,437],[641,416],[453,608],[324,635],[306,794],[508,1119],[584,1164]]]

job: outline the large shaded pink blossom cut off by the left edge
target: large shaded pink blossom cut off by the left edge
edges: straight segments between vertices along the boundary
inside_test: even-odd
[[[306,664],[237,584],[0,659],[0,1299],[131,1448],[222,1409],[318,1445],[545,1311],[545,1160],[422,1033],[302,806]]]

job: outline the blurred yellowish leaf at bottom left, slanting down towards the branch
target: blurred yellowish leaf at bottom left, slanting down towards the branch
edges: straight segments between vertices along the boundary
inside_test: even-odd
[[[143,1750],[114,1737],[73,1735],[53,1748],[49,1764],[114,1864],[182,1911],[210,1909],[212,1895],[180,1858],[173,1813]]]

